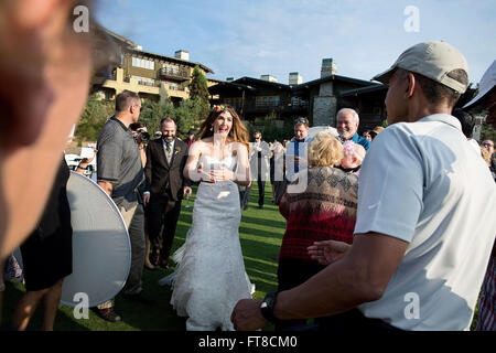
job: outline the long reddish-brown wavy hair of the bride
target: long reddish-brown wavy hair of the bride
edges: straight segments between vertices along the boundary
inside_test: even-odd
[[[230,140],[233,142],[240,142],[240,143],[245,145],[245,147],[248,150],[249,149],[248,129],[241,122],[241,119],[239,118],[235,108],[233,108],[231,106],[228,106],[228,105],[214,106],[211,110],[211,114],[208,114],[208,117],[200,126],[200,131],[196,136],[200,137],[200,139],[214,136],[214,131],[211,129],[212,125],[214,124],[215,119],[217,119],[217,117],[220,114],[223,114],[224,111],[228,111],[230,114],[230,116],[233,117],[233,127],[230,128],[228,138],[230,138]]]

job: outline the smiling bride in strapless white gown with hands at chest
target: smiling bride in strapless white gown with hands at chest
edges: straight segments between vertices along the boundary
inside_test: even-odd
[[[239,244],[237,184],[249,184],[248,130],[228,106],[214,106],[190,149],[184,175],[201,180],[171,304],[188,331],[233,331],[230,313],[251,298]]]

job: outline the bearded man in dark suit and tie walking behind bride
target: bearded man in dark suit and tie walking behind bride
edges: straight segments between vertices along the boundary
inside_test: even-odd
[[[144,174],[150,188],[148,231],[152,245],[151,261],[169,267],[169,255],[181,212],[183,195],[191,195],[191,183],[183,176],[187,143],[175,137],[176,125],[171,118],[160,121],[162,138],[149,142]],[[162,235],[160,231],[163,226]]]

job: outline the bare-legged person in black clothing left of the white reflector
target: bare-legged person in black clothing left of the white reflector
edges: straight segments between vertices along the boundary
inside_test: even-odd
[[[42,299],[42,330],[53,330],[62,282],[73,272],[73,228],[66,191],[68,178],[69,169],[63,160],[42,218],[21,245],[26,292],[13,313],[12,328],[15,330],[25,330]]]

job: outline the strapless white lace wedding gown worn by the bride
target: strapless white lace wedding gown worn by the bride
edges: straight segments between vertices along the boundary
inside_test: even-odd
[[[202,156],[204,171],[235,170],[236,157]],[[172,286],[171,304],[188,317],[188,331],[233,331],[230,314],[240,299],[251,298],[239,243],[241,211],[233,181],[200,183],[182,258]]]

